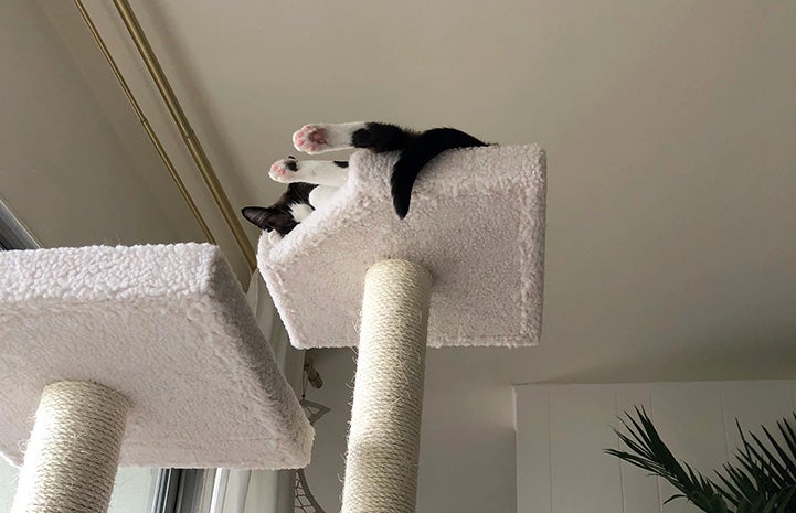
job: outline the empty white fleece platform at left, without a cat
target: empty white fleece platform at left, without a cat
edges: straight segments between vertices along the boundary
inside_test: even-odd
[[[0,450],[22,460],[42,388],[131,400],[121,464],[299,468],[312,428],[208,244],[0,252]]]

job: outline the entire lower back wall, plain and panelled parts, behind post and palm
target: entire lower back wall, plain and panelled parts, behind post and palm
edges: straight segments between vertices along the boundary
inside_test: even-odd
[[[676,453],[709,470],[735,446],[735,418],[755,429],[796,410],[792,381],[519,385],[512,393],[509,385],[445,380],[450,354],[428,352],[418,513],[660,513],[660,498],[672,489],[662,483],[659,494],[655,479],[602,452],[616,447],[618,414],[644,405]],[[319,503],[338,511],[355,353],[323,350],[314,357],[325,385],[307,398],[332,410],[315,426],[306,472]],[[693,513],[679,504],[664,511]]]

